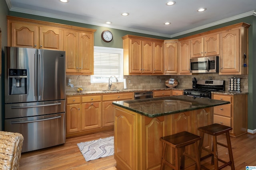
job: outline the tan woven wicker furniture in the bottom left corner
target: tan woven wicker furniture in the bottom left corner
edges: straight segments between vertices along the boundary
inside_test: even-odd
[[[23,136],[0,131],[0,170],[18,170]]]

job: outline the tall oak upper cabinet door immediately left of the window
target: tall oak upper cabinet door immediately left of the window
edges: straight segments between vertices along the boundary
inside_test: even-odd
[[[93,33],[79,33],[79,72],[93,74]]]

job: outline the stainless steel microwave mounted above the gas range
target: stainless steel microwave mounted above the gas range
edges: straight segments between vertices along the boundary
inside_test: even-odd
[[[190,59],[190,71],[192,73],[219,72],[219,56]]]

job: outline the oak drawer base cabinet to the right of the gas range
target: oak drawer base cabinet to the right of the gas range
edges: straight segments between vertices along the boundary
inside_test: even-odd
[[[230,104],[214,107],[214,123],[230,126],[230,136],[247,133],[247,94],[213,94],[213,99],[229,101]]]

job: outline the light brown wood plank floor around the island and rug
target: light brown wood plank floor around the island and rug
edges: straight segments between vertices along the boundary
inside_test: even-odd
[[[63,145],[22,153],[20,170],[116,170],[114,156],[86,162],[76,145],[80,142],[110,136],[114,136],[114,131],[72,137],[66,139]],[[224,135],[218,137],[218,141],[223,143],[225,143],[224,139]],[[231,137],[231,143],[236,170],[245,170],[246,166],[256,166],[256,135],[245,134],[236,138]],[[218,151],[221,158],[228,157],[226,148],[220,146]],[[209,162],[210,159],[202,164]],[[230,167],[223,170],[230,170]]]

